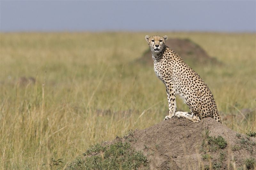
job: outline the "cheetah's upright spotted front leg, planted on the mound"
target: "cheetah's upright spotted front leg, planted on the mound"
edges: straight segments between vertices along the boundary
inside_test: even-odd
[[[167,93],[168,106],[169,106],[169,115],[165,116],[164,120],[168,120],[174,116],[177,109],[176,90],[175,90],[174,81],[165,82],[165,85],[166,85],[166,93]]]

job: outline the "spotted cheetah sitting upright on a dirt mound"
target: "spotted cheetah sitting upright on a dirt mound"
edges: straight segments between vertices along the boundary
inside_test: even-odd
[[[212,117],[221,123],[212,92],[200,76],[183,59],[165,45],[167,36],[145,36],[154,59],[156,76],[164,82],[169,106],[169,115],[200,122],[204,117]],[[191,112],[176,112],[176,95],[188,105]]]

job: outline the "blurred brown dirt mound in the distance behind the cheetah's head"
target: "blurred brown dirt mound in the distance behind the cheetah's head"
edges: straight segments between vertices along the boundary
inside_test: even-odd
[[[216,58],[209,56],[203,48],[189,39],[168,39],[166,45],[180,55],[180,57],[188,64],[220,64]],[[150,49],[145,51],[137,62],[152,65],[153,62]]]

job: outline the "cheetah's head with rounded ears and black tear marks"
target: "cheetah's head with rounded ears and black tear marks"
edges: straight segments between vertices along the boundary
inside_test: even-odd
[[[145,36],[145,39],[148,42],[148,46],[152,53],[160,53],[164,48],[164,43],[166,42],[167,38],[168,37],[166,35],[163,37],[158,35],[151,37],[148,35]]]

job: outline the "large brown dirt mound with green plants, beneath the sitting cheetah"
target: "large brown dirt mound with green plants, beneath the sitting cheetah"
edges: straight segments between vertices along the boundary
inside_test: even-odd
[[[124,152],[123,146],[129,152]],[[113,148],[118,148],[118,151]],[[115,161],[108,159],[107,154],[110,153],[110,158],[117,158]],[[97,159],[95,155],[98,155]],[[133,159],[127,155],[133,155]],[[137,163],[126,168],[129,164],[126,162],[120,165],[121,169],[253,169],[256,166],[255,155],[255,137],[236,133],[212,118],[204,118],[198,123],[173,118],[92,146],[79,159],[68,164],[67,169],[98,169],[104,159],[107,162],[122,160],[121,163],[129,159],[130,163]],[[88,161],[93,165],[86,164]],[[106,169],[111,167],[108,164]]]

